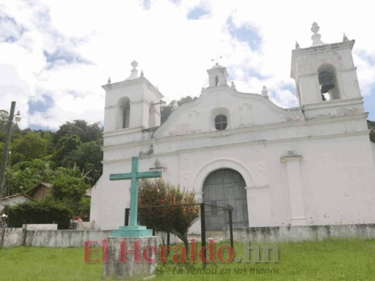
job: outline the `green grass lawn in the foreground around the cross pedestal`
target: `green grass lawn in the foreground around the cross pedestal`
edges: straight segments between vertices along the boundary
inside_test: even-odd
[[[375,280],[375,239],[276,245],[278,263],[217,262],[203,268],[201,262],[174,264],[170,255],[152,280]],[[243,256],[242,244],[235,244],[235,253]],[[0,248],[0,280],[102,280],[102,263],[83,259],[83,248]]]

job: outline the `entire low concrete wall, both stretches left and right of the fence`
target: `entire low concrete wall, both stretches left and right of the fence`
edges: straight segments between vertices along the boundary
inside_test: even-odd
[[[0,247],[83,247],[84,241],[97,241],[112,235],[111,230],[29,230],[0,228]],[[224,238],[229,240],[226,227]],[[365,225],[317,225],[233,227],[234,241],[257,241],[260,243],[320,241],[327,238],[375,238],[375,224]],[[171,239],[171,242],[173,239]]]

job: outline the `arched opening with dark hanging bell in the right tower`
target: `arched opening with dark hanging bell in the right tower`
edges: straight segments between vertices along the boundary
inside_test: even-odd
[[[323,64],[319,67],[318,79],[323,101],[340,98],[336,69],[332,64]]]

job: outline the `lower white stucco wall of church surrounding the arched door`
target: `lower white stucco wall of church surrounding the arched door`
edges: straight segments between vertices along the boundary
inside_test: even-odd
[[[353,149],[353,143],[357,149]],[[368,135],[283,143],[214,147],[160,155],[140,160],[140,170],[153,167],[157,158],[166,166],[163,178],[196,192],[209,172],[219,168],[239,171],[248,186],[250,226],[288,225],[291,219],[288,177],[280,157],[293,144],[302,155],[300,171],[308,225],[375,222],[375,172]],[[266,167],[267,182],[256,182],[256,167]],[[93,189],[91,219],[101,229],[124,222],[129,207],[129,181],[109,181],[110,173],[130,171],[130,160],[105,165]],[[100,207],[98,207],[100,206]]]

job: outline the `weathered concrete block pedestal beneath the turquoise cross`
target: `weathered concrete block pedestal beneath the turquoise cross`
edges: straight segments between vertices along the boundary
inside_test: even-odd
[[[151,251],[150,246],[157,250],[157,236],[108,237],[108,261],[103,263],[104,277],[122,280],[153,275],[157,266],[157,253],[156,250]]]

